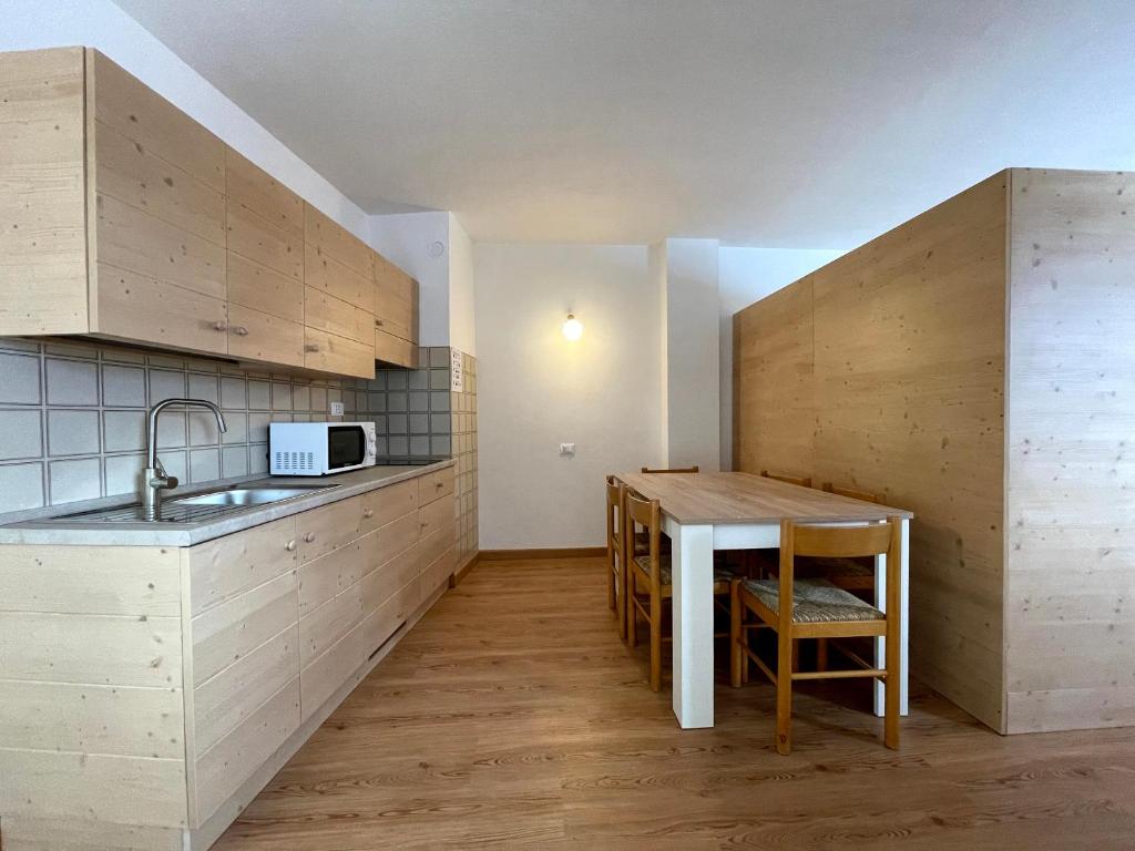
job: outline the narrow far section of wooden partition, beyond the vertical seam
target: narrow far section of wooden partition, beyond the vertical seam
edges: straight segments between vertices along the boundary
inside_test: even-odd
[[[816,407],[810,278],[733,319],[733,466],[810,474]]]

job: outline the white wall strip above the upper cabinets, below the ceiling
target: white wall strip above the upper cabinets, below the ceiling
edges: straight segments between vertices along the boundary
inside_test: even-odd
[[[0,50],[98,48],[343,227],[367,214],[110,0],[0,0]]]

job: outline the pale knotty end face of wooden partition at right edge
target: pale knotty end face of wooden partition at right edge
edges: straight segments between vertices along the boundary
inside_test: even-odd
[[[1135,176],[1011,189],[1008,726],[1135,724]]]

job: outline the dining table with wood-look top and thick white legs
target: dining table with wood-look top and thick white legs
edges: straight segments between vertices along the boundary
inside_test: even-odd
[[[617,477],[662,508],[673,559],[673,707],[683,728],[714,723],[715,549],[780,547],[781,521],[859,525],[898,517],[899,706],[907,714],[910,520],[908,511],[788,485],[753,473],[621,473]],[[886,556],[875,557],[875,607],[886,608]],[[885,667],[883,639],[875,640],[875,666]],[[876,681],[874,708],[883,715],[883,684]]]

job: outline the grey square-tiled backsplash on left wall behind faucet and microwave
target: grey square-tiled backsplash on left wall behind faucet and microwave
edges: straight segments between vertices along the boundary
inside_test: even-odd
[[[218,403],[167,410],[158,455],[171,475],[205,483],[267,472],[268,423],[339,419],[343,381],[269,374],[226,361],[143,349],[0,337],[0,513],[136,491],[145,415],[173,396]]]

